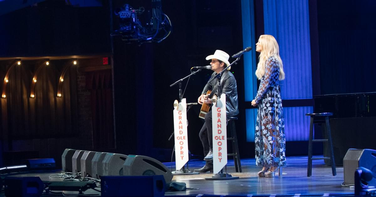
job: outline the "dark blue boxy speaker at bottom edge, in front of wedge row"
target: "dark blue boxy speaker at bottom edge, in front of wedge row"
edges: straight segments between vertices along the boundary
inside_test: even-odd
[[[165,181],[155,176],[102,176],[102,197],[164,197]]]

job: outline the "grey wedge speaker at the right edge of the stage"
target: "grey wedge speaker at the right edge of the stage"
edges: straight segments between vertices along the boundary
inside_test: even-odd
[[[344,185],[354,185],[354,173],[358,167],[364,167],[372,171],[373,178],[367,182],[370,186],[376,186],[376,150],[347,150],[347,153],[343,158]]]

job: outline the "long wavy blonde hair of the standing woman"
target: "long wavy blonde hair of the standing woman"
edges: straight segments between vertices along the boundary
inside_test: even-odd
[[[259,63],[257,65],[256,77],[261,80],[265,75],[265,62],[269,57],[274,57],[279,63],[279,80],[285,79],[285,72],[283,71],[282,59],[279,56],[279,46],[276,39],[272,35],[261,35],[259,42],[261,44],[261,54],[259,56]]]

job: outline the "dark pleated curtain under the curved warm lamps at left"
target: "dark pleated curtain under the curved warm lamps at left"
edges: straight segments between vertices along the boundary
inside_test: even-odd
[[[42,66],[35,84],[35,97],[30,98],[30,85],[39,63],[16,65],[2,99],[3,135],[9,140],[66,138],[77,136],[77,98],[75,67],[68,68],[62,85],[62,96],[56,97],[58,79],[64,61]],[[4,133],[6,132],[6,133]]]

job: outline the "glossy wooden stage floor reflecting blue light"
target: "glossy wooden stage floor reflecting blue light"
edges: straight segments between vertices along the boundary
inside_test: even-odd
[[[229,157],[230,158],[230,157]],[[169,169],[175,170],[174,162],[164,163]],[[205,162],[189,161],[189,169],[201,168]],[[337,176],[332,176],[331,167],[324,164],[323,160],[313,160],[312,176],[307,177],[307,156],[287,157],[287,167],[283,168],[282,177],[276,176],[258,177],[257,172],[260,167],[255,166],[255,159],[241,159],[243,172],[236,173],[233,160],[228,161],[227,173],[232,176],[239,176],[239,179],[232,180],[205,180],[211,177],[212,173],[196,175],[174,175],[173,181],[186,183],[186,191],[165,192],[165,196],[199,194],[209,195],[265,195],[265,196],[299,196],[299,195],[353,195],[354,188],[341,186],[343,183],[343,167],[337,167]],[[55,172],[55,173],[59,173]],[[42,181],[62,181],[62,178],[49,178],[53,172],[49,173],[28,173],[14,176],[39,176]],[[100,190],[100,188],[96,188]],[[146,189],[146,188],[145,188]],[[125,193],[126,191],[124,191]],[[60,192],[60,194],[62,194]],[[77,192],[65,191],[66,195],[74,195]],[[86,195],[100,196],[99,191],[88,189]],[[0,197],[4,196],[4,191],[0,192]],[[42,195],[52,196],[52,195]],[[53,196],[64,196],[53,194]]]

